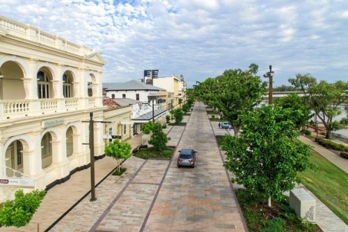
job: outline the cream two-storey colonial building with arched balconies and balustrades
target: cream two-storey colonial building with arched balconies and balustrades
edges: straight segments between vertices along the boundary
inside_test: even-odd
[[[0,202],[88,167],[85,121],[103,120],[104,63],[93,49],[0,16]],[[94,133],[99,156],[101,123]]]

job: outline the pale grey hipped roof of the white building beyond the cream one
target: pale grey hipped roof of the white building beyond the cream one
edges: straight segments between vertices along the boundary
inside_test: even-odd
[[[164,88],[159,88],[157,86],[152,86],[151,84],[145,84],[136,80],[131,80],[129,82],[123,83],[103,83],[103,88],[105,91],[123,91],[123,90],[155,90],[161,91]]]

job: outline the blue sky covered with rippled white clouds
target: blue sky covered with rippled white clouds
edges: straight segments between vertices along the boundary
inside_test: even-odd
[[[348,80],[347,0],[0,0],[0,15],[97,49],[103,82],[269,65],[274,86],[296,74]]]

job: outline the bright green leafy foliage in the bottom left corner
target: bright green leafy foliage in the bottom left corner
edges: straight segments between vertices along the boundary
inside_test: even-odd
[[[15,199],[5,201],[0,208],[0,225],[20,227],[28,224],[45,194],[45,191],[40,190],[33,190],[27,194],[24,194],[23,190],[17,190]]]

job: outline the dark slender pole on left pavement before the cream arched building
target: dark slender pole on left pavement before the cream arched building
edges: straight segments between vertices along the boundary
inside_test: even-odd
[[[94,123],[111,123],[106,121],[94,121],[93,112],[89,113],[90,120],[82,121],[82,123],[89,123],[89,149],[90,149],[90,201],[96,201],[95,197],[95,159],[94,159]],[[86,145],[86,144],[84,144]]]

